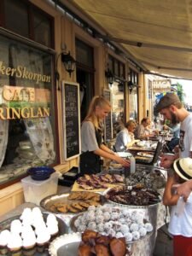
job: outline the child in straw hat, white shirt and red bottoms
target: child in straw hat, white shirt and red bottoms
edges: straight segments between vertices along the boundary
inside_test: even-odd
[[[177,159],[173,164],[174,173],[166,182],[163,195],[163,203],[172,206],[169,232],[173,236],[173,255],[189,256],[192,253],[192,193],[190,192],[187,202],[173,190],[175,183],[192,181],[192,159]]]

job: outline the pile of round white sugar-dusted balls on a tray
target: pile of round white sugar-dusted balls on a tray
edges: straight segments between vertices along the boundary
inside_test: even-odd
[[[153,231],[152,224],[144,219],[143,212],[112,206],[89,207],[87,212],[72,218],[71,228],[73,231],[84,232],[88,229],[103,236],[125,237],[127,243]]]

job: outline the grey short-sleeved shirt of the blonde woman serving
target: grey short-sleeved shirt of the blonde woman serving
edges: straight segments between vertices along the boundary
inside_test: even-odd
[[[90,121],[85,121],[81,126],[81,152],[99,149],[96,142],[96,130]]]

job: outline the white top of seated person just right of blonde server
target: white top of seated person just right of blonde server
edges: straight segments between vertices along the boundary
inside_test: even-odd
[[[131,136],[129,135],[129,131],[125,128],[124,130],[119,131],[114,148],[117,152],[125,151],[128,143],[131,143]]]

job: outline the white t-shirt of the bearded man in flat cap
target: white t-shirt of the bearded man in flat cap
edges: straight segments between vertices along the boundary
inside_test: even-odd
[[[192,151],[192,114],[181,123],[179,148],[179,157],[189,157],[189,152]]]

